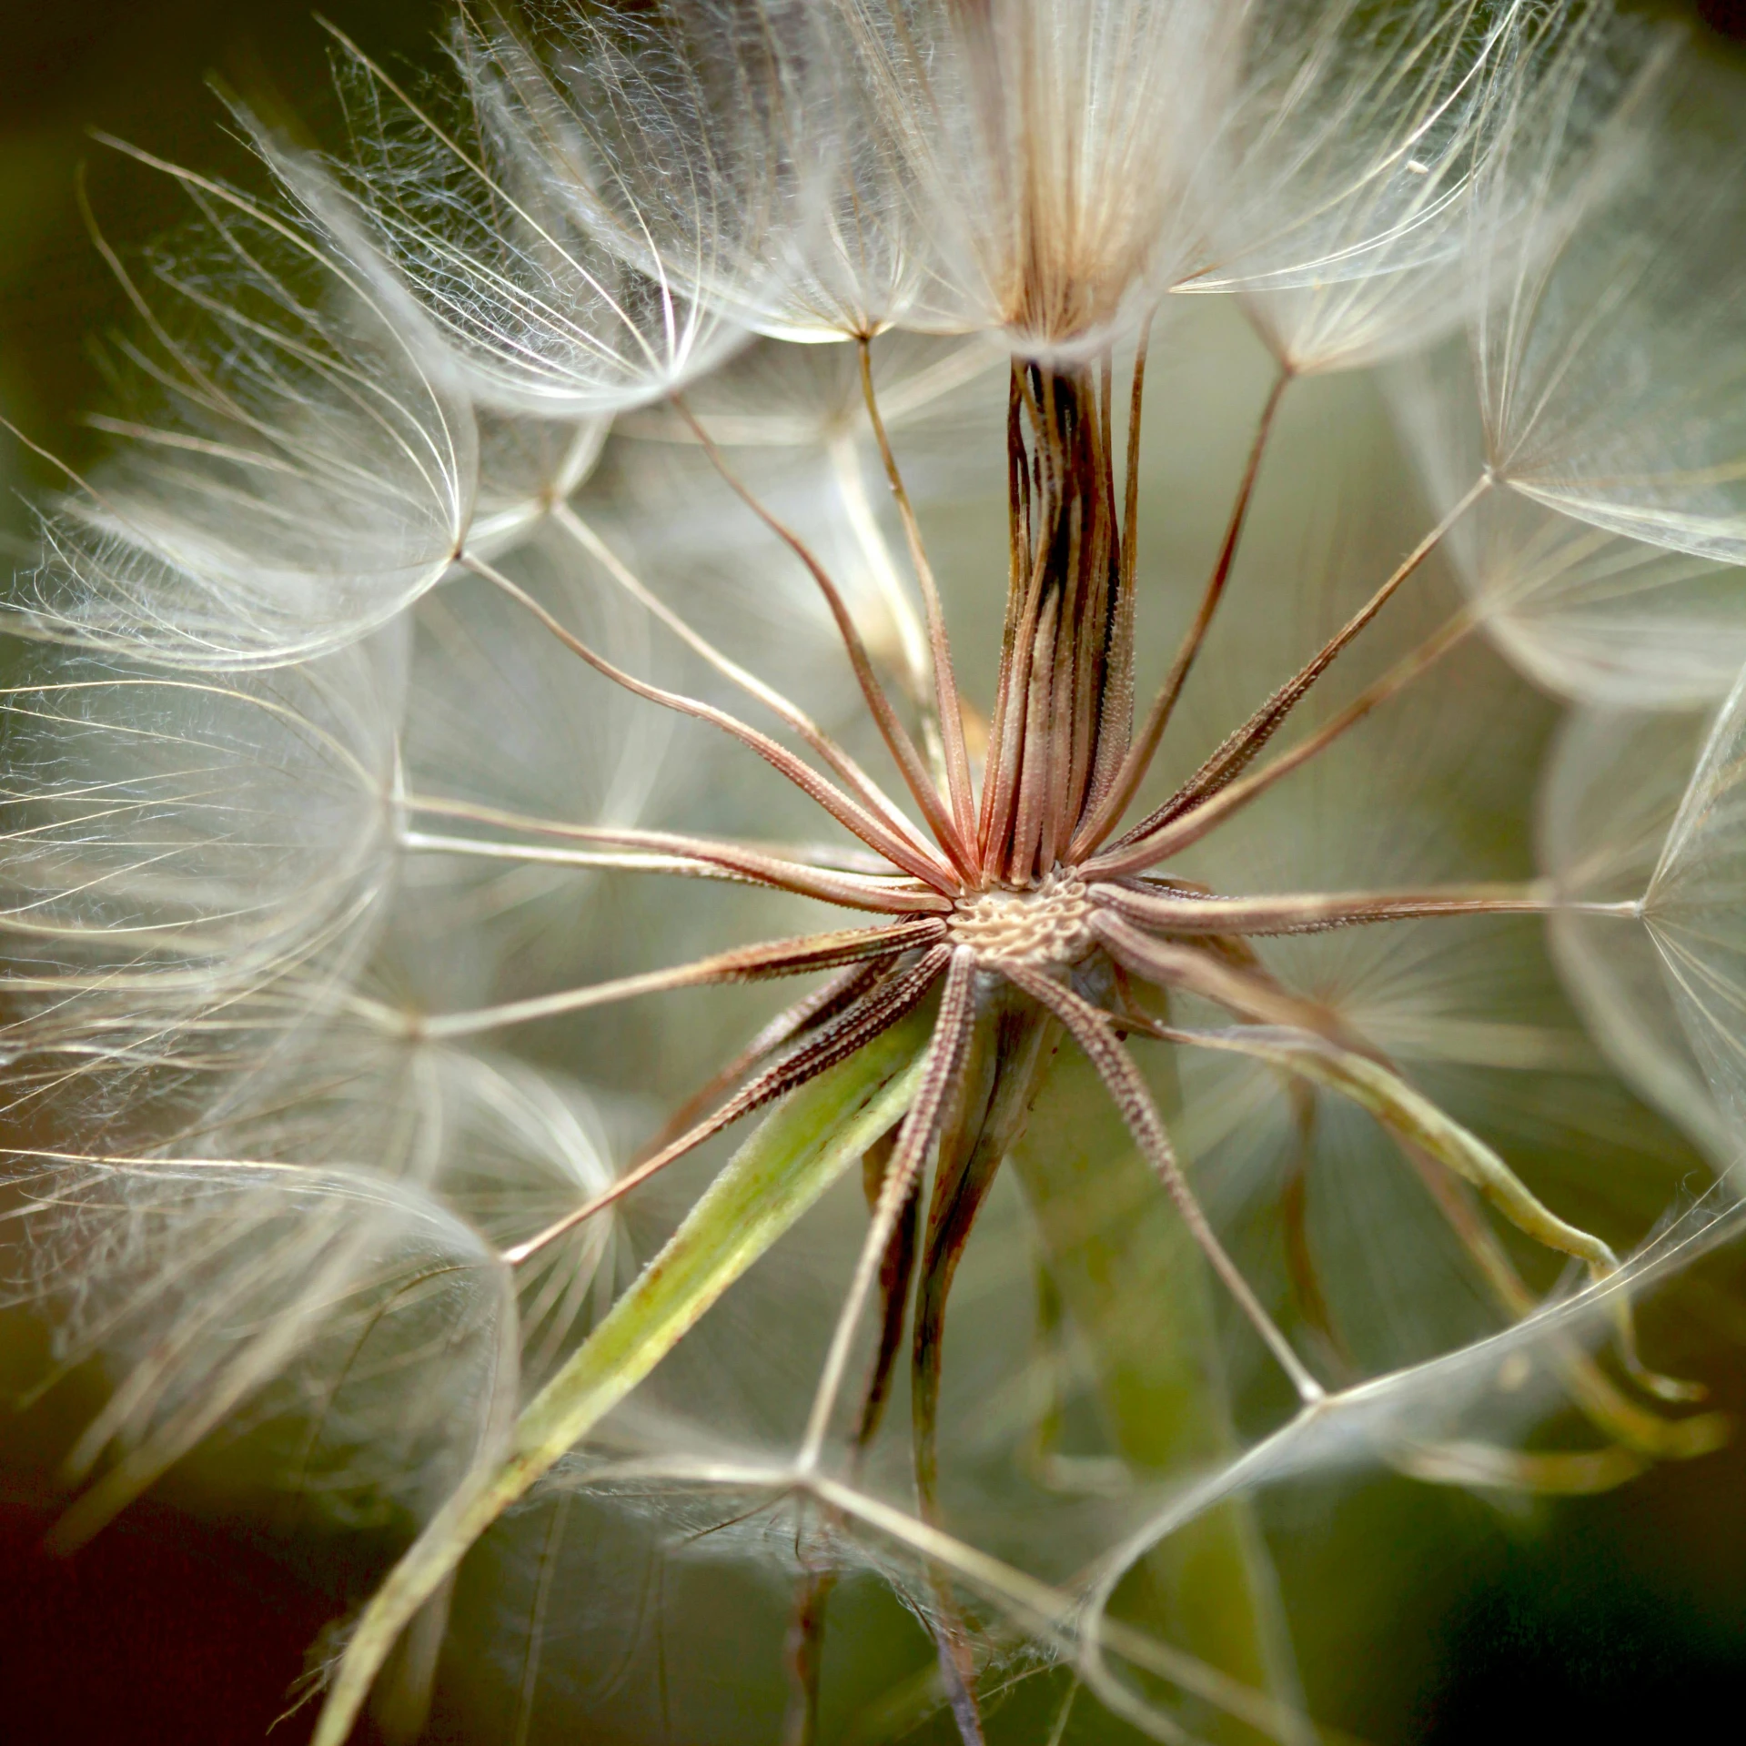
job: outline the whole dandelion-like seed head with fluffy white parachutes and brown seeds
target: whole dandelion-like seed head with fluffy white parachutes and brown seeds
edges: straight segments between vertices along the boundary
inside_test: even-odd
[[[1746,255],[1650,197],[1669,40],[665,0],[463,16],[452,101],[339,58],[346,152],[244,115],[271,199],[171,171],[192,337],[117,258],[164,410],[9,611],[14,1217],[115,1378],[63,1538],[222,1437],[391,1521],[325,1746],[522,1591],[506,1737],[588,1713],[543,1631],[623,1631],[651,1521],[780,1561],[794,1743],[857,1570],[964,1741],[1065,1666],[1290,1743],[1262,1488],[1716,1447],[1633,1315],[1746,1119],[1739,690],[1680,714],[1746,656]],[[1165,602],[1203,492],[1152,456],[1238,316],[1271,384]],[[1379,363],[1430,512],[1334,540],[1316,466],[1390,463],[1292,419]],[[1481,629],[1584,705],[1543,876],[1479,822],[1535,779]],[[1722,1179],[1626,1257],[1603,1056]]]

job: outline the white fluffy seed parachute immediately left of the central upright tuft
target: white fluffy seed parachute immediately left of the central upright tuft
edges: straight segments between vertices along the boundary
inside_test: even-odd
[[[576,199],[643,274],[798,342],[878,333],[932,278],[915,166],[845,9],[663,0],[581,24],[546,3],[526,40],[498,45],[508,84],[548,133],[587,134]]]

